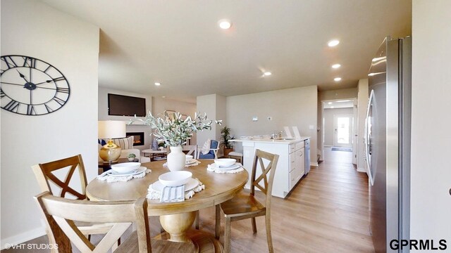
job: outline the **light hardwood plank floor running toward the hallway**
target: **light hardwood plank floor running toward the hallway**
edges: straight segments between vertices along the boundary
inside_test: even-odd
[[[374,252],[368,230],[368,177],[356,171],[351,152],[327,148],[325,161],[311,169],[288,198],[273,197],[272,204],[271,231],[275,252]],[[201,228],[213,234],[214,215],[214,208],[200,212]],[[152,235],[159,233],[158,219],[151,218],[150,225]],[[254,235],[249,220],[235,221],[231,229],[232,252],[268,252],[264,217],[257,218],[257,230]],[[45,242],[46,237],[30,241]],[[10,249],[1,252],[37,251]]]

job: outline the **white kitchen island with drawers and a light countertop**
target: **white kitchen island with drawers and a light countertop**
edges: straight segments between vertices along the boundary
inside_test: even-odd
[[[250,176],[252,175],[252,164],[254,162],[255,150],[264,150],[268,153],[279,155],[276,174],[274,175],[272,195],[285,198],[296,183],[304,176],[305,164],[305,141],[310,137],[301,138],[241,138],[233,139],[237,143],[242,143],[243,167],[249,173],[249,181],[245,188],[250,188]],[[265,164],[266,165],[266,164]],[[307,170],[308,171],[308,170]],[[261,169],[257,168],[256,177],[261,174]]]

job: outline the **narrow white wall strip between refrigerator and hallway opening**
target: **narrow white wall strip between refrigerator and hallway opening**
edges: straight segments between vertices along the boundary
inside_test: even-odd
[[[358,110],[358,142],[357,142],[357,171],[366,171],[366,155],[365,155],[365,118],[366,108],[368,108],[368,79],[360,79],[357,86],[359,91],[357,97],[357,110]]]

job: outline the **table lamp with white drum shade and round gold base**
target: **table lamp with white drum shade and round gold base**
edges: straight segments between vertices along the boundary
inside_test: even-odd
[[[121,156],[121,147],[113,143],[112,138],[125,137],[125,122],[116,120],[99,121],[99,138],[108,138],[106,143],[100,150],[99,156],[105,162],[114,162]]]

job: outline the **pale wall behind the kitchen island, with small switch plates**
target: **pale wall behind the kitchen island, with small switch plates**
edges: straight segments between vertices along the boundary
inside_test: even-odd
[[[268,135],[283,131],[283,126],[297,126],[301,136],[311,137],[311,147],[316,147],[317,86],[267,91],[227,97],[227,121],[236,138],[240,136]],[[252,117],[258,121],[253,122]],[[267,117],[272,117],[269,121]],[[310,130],[309,126],[314,129]],[[242,152],[242,145],[235,144]],[[310,159],[316,162],[316,148],[311,148]]]

